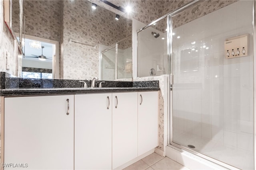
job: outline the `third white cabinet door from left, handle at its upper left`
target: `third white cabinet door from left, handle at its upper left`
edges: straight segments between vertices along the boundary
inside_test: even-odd
[[[138,155],[138,93],[112,94],[113,169]]]

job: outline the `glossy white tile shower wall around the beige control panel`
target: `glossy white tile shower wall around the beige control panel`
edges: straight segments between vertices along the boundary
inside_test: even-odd
[[[252,152],[252,3],[235,2],[173,30],[175,134],[192,133]],[[245,33],[249,55],[226,59],[225,39]],[[187,49],[198,51],[190,65],[181,55]]]

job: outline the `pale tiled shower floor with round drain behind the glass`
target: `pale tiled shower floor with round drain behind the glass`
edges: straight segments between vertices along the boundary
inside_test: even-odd
[[[222,142],[214,142],[210,139],[204,139],[198,135],[174,132],[174,143],[188,147],[193,145],[192,149],[206,156],[225,162],[237,168],[251,170],[254,166],[253,152],[249,150],[239,149],[237,147],[226,145]]]

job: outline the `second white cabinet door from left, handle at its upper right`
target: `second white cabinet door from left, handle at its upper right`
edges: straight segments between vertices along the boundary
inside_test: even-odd
[[[75,170],[112,168],[112,94],[75,95]]]

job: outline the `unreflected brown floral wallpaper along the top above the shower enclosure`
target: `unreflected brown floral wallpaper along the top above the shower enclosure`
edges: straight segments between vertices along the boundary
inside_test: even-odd
[[[175,11],[181,6],[188,4],[192,0],[110,0],[116,6],[132,6],[130,17],[149,24],[152,21]],[[176,28],[192,20],[200,18],[210,12],[223,8],[237,0],[206,0],[197,6],[186,10],[173,18],[173,27]],[[152,25],[155,29],[166,32],[166,19]]]

